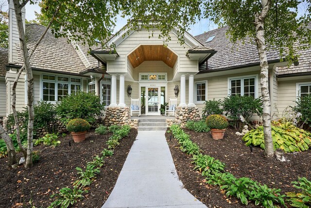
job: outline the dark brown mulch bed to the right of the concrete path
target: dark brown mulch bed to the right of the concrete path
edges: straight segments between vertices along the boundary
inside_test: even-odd
[[[269,188],[281,189],[281,193],[297,191],[292,185],[298,177],[307,177],[311,180],[311,150],[304,152],[284,153],[290,161],[280,162],[276,159],[264,157],[264,151],[260,148],[253,148],[244,145],[242,136],[235,135],[236,130],[228,128],[222,140],[212,139],[210,132],[192,132],[190,139],[197,143],[204,154],[224,162],[225,171],[231,172],[237,178],[249,177],[261,184],[267,184]],[[207,206],[213,208],[241,208],[257,207],[253,203],[248,206],[242,205],[235,197],[227,198],[225,192],[219,187],[205,184],[205,178],[199,172],[193,171],[190,156],[179,150],[177,140],[170,140],[172,133],[166,133],[166,138],[173,156],[179,179],[184,187],[195,197]]]

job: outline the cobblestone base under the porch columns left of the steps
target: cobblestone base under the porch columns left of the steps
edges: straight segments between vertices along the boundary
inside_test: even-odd
[[[130,119],[129,107],[108,107],[106,108],[104,125],[130,125],[131,128],[137,129],[138,119]]]

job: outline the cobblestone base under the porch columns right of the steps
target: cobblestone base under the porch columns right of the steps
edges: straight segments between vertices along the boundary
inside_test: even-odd
[[[200,119],[201,118],[198,107],[177,107],[175,118],[167,118],[166,125],[167,127],[170,127],[173,124],[180,124],[180,126],[183,128],[185,127],[187,121]]]

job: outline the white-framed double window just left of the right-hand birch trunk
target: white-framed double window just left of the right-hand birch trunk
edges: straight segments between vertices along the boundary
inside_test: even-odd
[[[256,80],[255,77],[230,79],[229,94],[255,97],[256,95],[255,80]]]

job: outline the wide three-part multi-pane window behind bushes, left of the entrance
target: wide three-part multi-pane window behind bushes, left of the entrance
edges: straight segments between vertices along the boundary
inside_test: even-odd
[[[67,96],[70,93],[76,93],[81,90],[81,78],[43,75],[42,87],[43,100],[59,101],[64,96]]]

